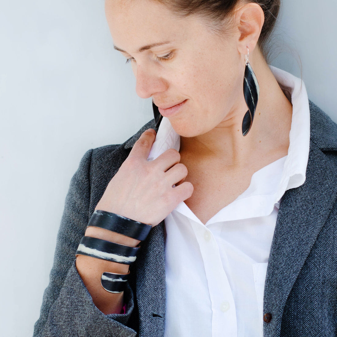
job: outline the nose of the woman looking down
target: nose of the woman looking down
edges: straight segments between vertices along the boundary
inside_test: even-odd
[[[165,81],[156,69],[145,68],[137,65],[134,69],[136,78],[136,93],[141,98],[149,98],[157,92],[167,90],[167,81]]]

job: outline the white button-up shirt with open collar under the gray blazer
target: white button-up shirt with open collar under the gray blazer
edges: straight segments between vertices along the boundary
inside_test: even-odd
[[[165,218],[165,337],[261,337],[263,294],[279,201],[305,181],[310,116],[304,83],[271,67],[293,115],[287,156],[252,176],[246,191],[204,225],[180,203]],[[148,160],[180,148],[163,118]]]

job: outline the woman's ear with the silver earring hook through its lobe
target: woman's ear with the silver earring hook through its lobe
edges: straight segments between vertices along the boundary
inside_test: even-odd
[[[265,14],[257,3],[247,3],[237,10],[236,18],[239,29],[238,51],[240,54],[252,52],[261,34]]]

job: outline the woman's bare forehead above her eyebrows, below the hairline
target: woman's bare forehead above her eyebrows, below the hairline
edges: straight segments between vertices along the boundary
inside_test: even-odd
[[[106,0],[114,44],[129,53],[163,41],[184,42],[205,29],[200,18],[181,17],[155,0]]]

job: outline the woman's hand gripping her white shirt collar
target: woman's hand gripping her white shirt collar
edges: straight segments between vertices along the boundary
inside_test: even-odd
[[[147,161],[155,137],[153,129],[140,136],[95,210],[113,212],[155,226],[192,195],[192,184],[182,182],[187,176],[187,168],[179,163],[178,151],[169,149],[155,160]],[[179,182],[182,183],[172,187]]]

